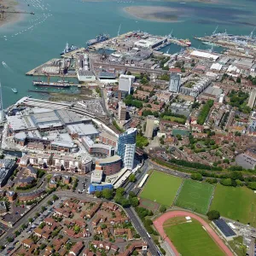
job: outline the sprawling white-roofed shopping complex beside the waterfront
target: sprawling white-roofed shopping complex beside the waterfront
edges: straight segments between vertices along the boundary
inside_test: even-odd
[[[9,116],[8,122],[15,143],[32,149],[77,152],[79,148],[73,138],[96,138],[99,134],[90,124],[91,119],[64,109],[26,108]]]

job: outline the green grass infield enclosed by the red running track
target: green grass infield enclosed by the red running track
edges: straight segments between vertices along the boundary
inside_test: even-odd
[[[175,219],[175,218],[174,218]],[[178,219],[177,224],[169,224],[168,220],[164,224],[166,235],[170,238],[178,253],[183,256],[222,256],[224,253],[208,235],[201,224],[192,219],[192,222],[186,223],[185,218],[183,222]]]

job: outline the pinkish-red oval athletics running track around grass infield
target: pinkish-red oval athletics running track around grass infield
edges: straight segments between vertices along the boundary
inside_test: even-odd
[[[170,247],[172,247],[172,251],[175,253],[175,255],[180,255],[180,253],[177,252],[176,247],[174,247],[174,245],[172,244],[172,241],[168,238],[168,236],[166,236],[165,230],[163,228],[163,225],[165,223],[165,221],[169,218],[174,218],[177,216],[189,216],[191,218],[195,218],[196,220],[198,220],[207,230],[208,234],[210,236],[212,236],[212,239],[218,244],[219,247],[222,248],[222,250],[224,251],[224,253],[228,256],[233,256],[233,253],[231,253],[230,249],[224,244],[224,241],[222,241],[218,235],[212,230],[212,228],[210,227],[209,224],[207,224],[207,222],[205,220],[203,220],[202,218],[200,218],[199,216],[195,215],[194,213],[191,212],[183,212],[183,211],[173,211],[173,212],[166,212],[165,214],[163,214],[162,216],[160,216],[159,218],[157,218],[156,220],[154,220],[154,227],[156,228],[156,230],[158,230],[158,232],[160,233],[160,236],[162,236],[163,239],[165,239],[166,237],[166,241],[168,242],[168,244],[170,245]]]

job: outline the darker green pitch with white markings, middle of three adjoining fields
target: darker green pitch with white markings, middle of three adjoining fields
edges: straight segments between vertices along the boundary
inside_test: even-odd
[[[185,179],[175,205],[194,212],[206,214],[211,202],[214,186]]]

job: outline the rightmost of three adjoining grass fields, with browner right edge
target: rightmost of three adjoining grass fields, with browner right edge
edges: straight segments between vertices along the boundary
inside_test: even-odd
[[[211,209],[218,210],[224,217],[256,227],[256,194],[247,187],[234,188],[218,184]]]

